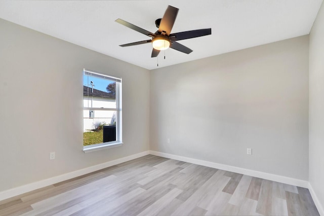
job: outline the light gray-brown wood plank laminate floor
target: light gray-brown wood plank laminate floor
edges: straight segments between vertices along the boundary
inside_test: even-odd
[[[319,215],[308,189],[147,155],[0,201],[0,215]]]

